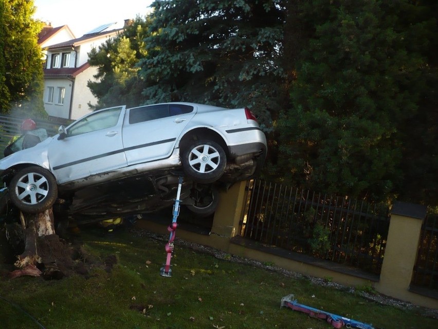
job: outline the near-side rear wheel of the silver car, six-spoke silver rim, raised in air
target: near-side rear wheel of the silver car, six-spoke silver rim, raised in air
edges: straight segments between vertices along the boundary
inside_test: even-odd
[[[227,156],[216,142],[199,140],[182,152],[181,163],[187,177],[196,183],[209,184],[224,174]]]

